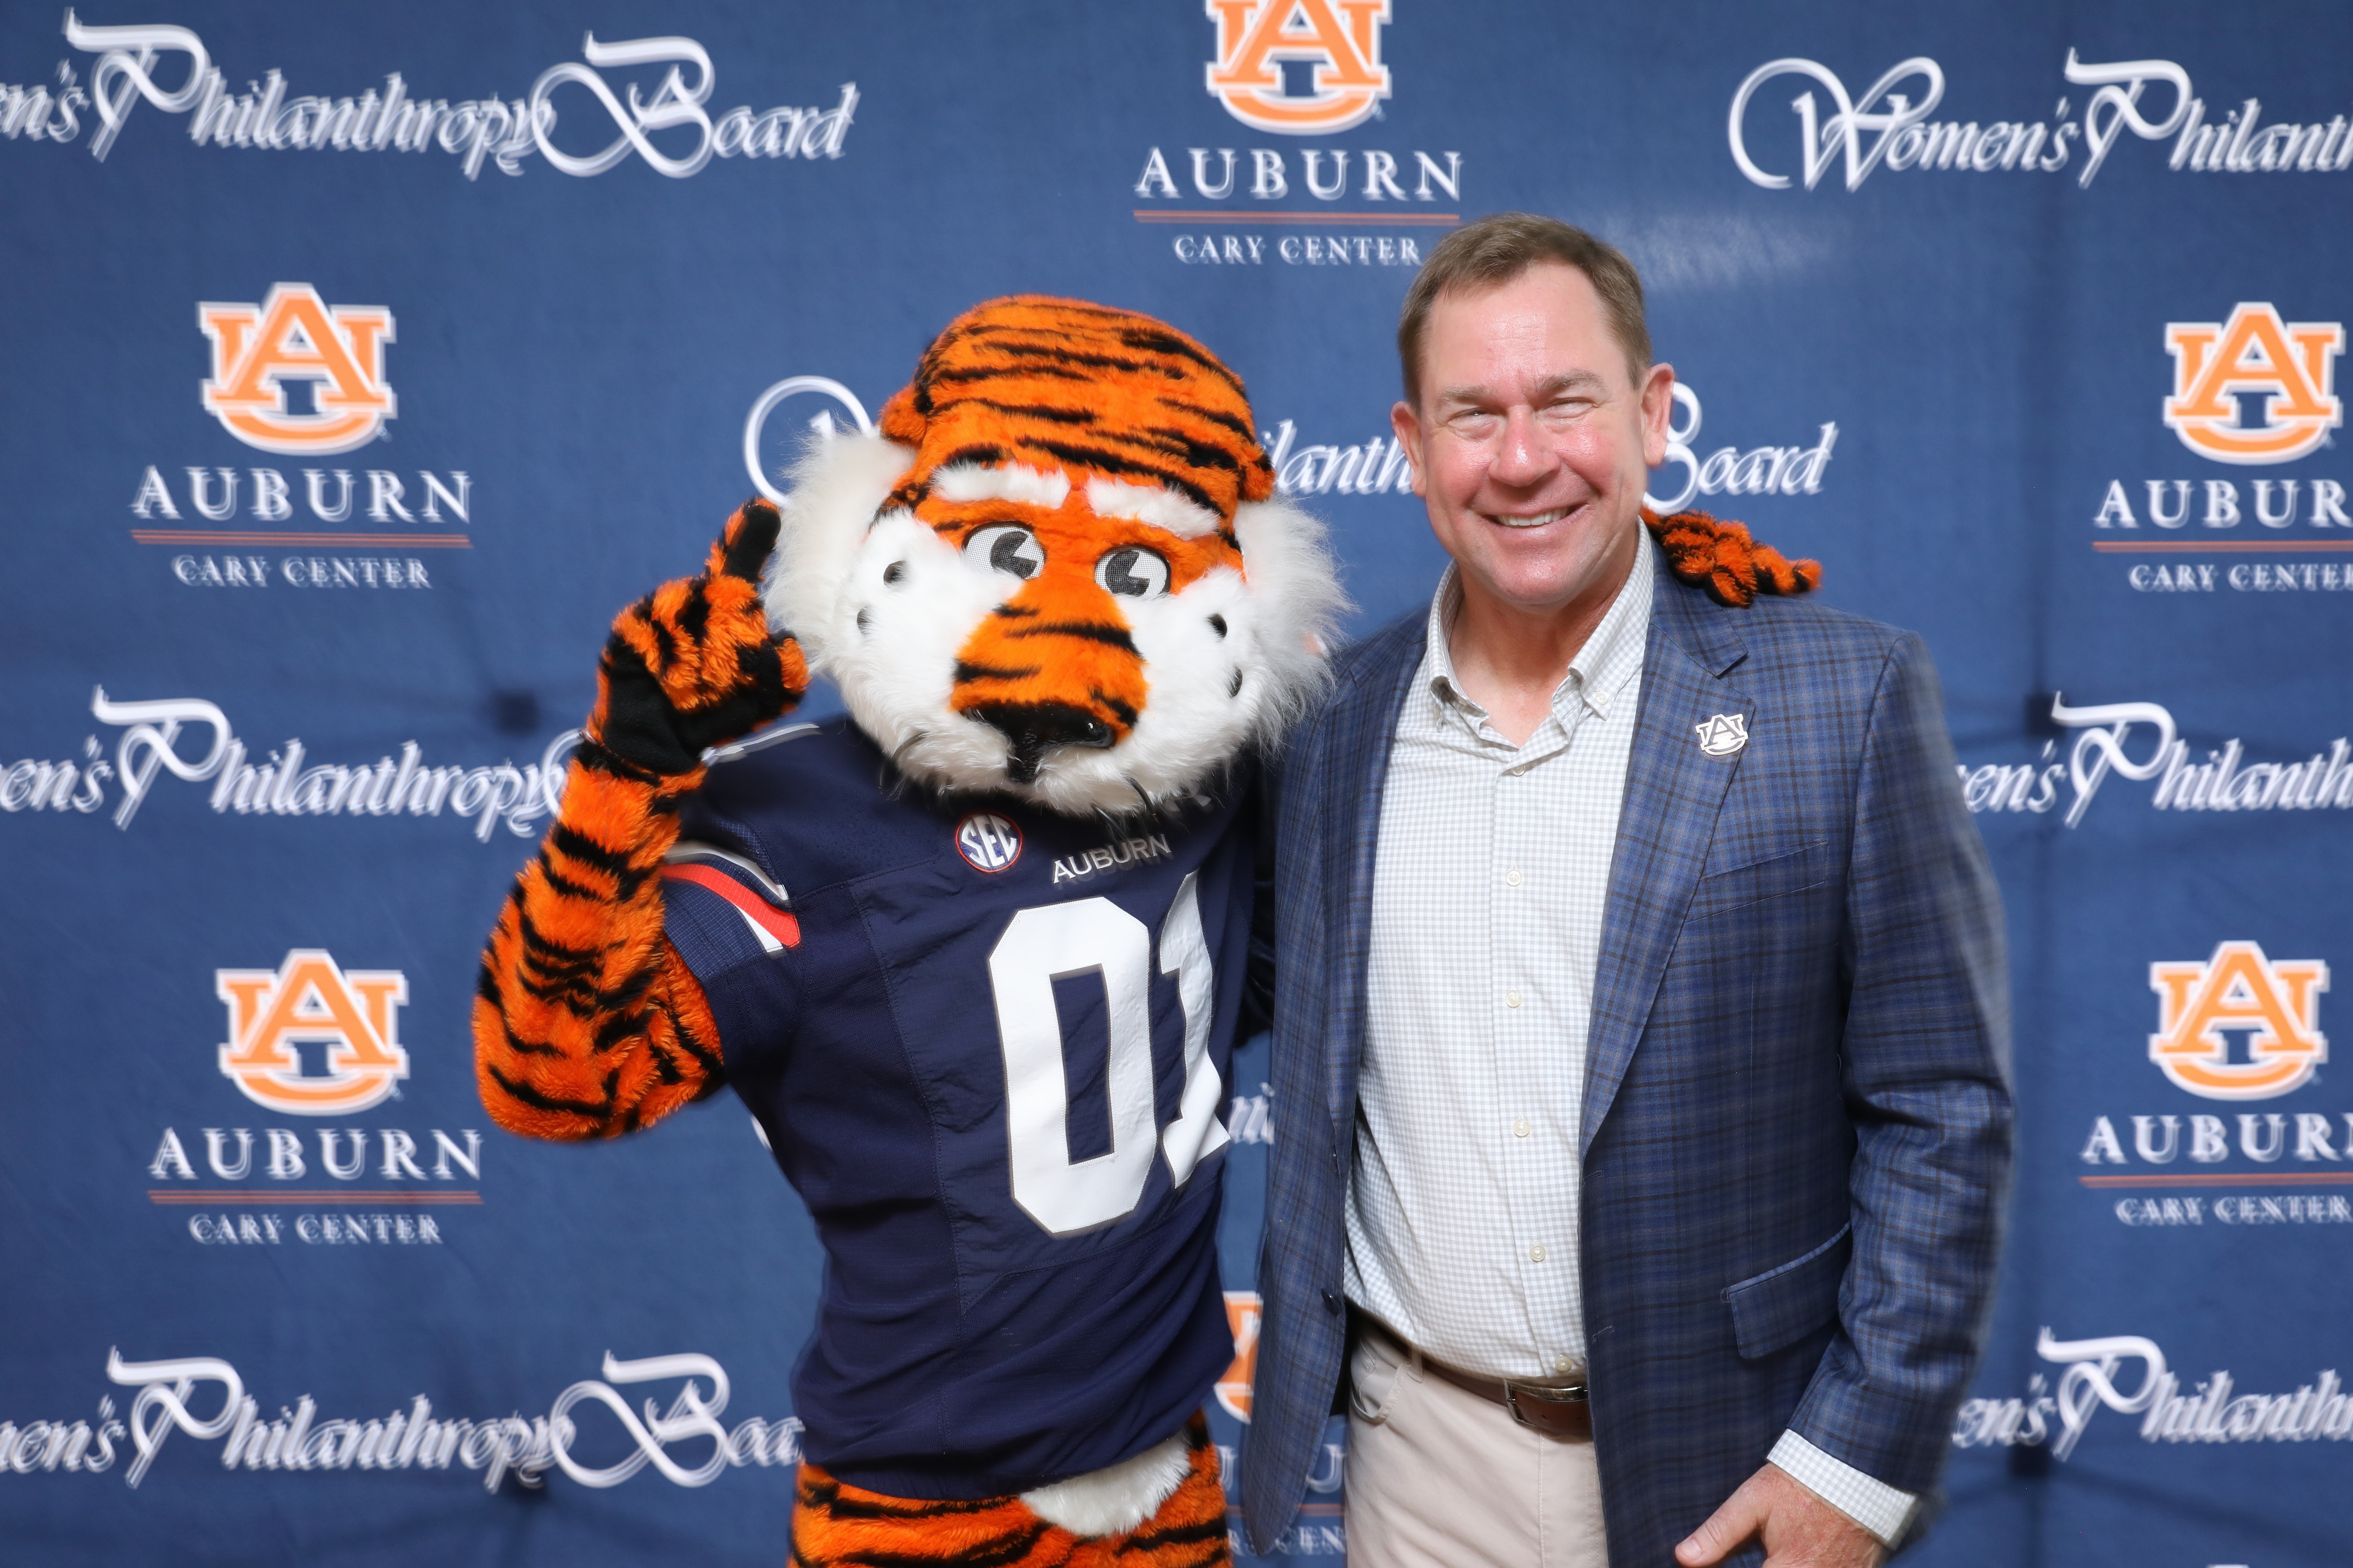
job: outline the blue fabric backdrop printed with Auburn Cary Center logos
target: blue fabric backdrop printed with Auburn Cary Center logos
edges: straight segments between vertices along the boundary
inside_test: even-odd
[[[9,1561],[784,1561],[821,1265],[751,1121],[539,1147],[468,1072],[605,621],[1042,289],[1247,376],[1377,625],[1440,567],[1398,301],[1504,207],[1642,266],[1654,496],[1944,670],[2021,1150],[1915,1561],[2344,1561],[2348,56],[2327,5],[12,7]],[[1287,1556],[1346,1549],[1332,1441]]]

